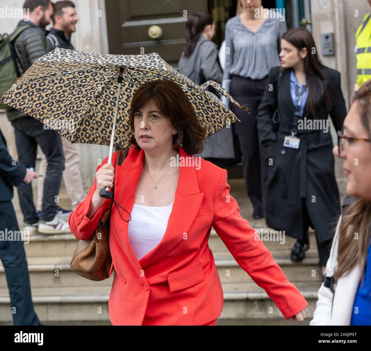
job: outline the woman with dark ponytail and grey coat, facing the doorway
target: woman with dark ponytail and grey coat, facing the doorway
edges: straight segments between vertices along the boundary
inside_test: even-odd
[[[198,85],[208,80],[221,83],[223,73],[219,64],[219,51],[212,41],[215,34],[213,17],[205,11],[191,14],[185,29],[186,42],[178,63],[179,72]],[[213,88],[207,90],[219,96]],[[223,128],[204,140],[204,150],[197,156],[224,168],[226,159],[234,158],[232,128]]]

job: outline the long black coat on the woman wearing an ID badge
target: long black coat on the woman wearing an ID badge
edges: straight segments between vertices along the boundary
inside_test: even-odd
[[[269,72],[267,87],[259,105],[257,127],[260,143],[266,147],[272,165],[268,167],[266,222],[275,230],[303,239],[303,212],[307,209],[313,229],[322,243],[331,237],[341,213],[339,191],[335,180],[334,156],[330,130],[298,130],[299,149],[283,146],[292,129],[295,106],[290,95],[290,69],[279,77],[280,67]],[[340,73],[322,68],[323,89],[328,87],[329,114],[336,131],[341,130],[347,114],[341,92]],[[316,119],[326,120],[328,112],[320,86],[316,87]],[[280,127],[273,131],[271,118],[278,108]],[[303,116],[313,120],[308,99]],[[329,124],[328,124],[329,126]],[[269,162],[269,160],[267,160]],[[304,199],[304,200],[302,200]],[[303,206],[305,203],[306,209]]]

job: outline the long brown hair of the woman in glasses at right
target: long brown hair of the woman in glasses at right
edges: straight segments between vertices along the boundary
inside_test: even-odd
[[[371,138],[371,79],[354,93],[361,124]],[[358,240],[355,240],[358,233]],[[339,227],[338,266],[334,272],[335,282],[355,265],[364,264],[371,235],[371,201],[358,199],[344,211]],[[362,269],[362,280],[364,270]]]

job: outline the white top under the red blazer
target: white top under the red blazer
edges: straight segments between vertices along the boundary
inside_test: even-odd
[[[174,201],[168,206],[134,204],[128,225],[128,238],[138,261],[162,240]]]

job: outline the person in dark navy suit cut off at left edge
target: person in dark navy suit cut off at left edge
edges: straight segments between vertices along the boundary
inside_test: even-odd
[[[14,325],[40,325],[33,308],[23,241],[16,237],[19,227],[12,204],[13,186],[22,181],[30,184],[35,177],[37,174],[34,171],[17,163],[9,155],[0,130],[0,259],[9,288]]]

